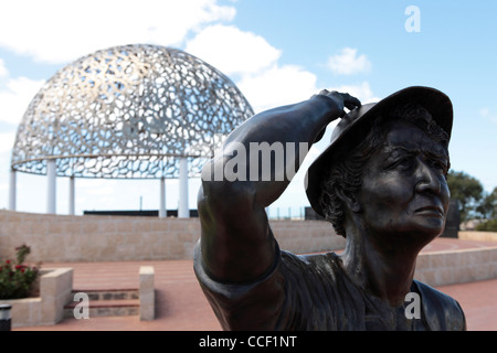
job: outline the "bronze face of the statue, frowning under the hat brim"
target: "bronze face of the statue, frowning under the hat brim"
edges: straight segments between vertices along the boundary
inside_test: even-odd
[[[420,128],[391,121],[385,143],[367,162],[360,207],[376,238],[427,244],[445,227],[448,156]],[[392,244],[393,245],[393,244]]]

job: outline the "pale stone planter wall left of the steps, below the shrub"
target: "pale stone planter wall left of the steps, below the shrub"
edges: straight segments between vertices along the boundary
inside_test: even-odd
[[[52,325],[64,318],[64,306],[71,300],[73,269],[44,269],[40,277],[40,297],[0,300],[12,306],[12,328]]]

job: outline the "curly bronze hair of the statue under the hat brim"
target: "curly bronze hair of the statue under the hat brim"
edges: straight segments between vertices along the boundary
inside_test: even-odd
[[[321,181],[319,204],[325,217],[331,222],[335,232],[347,236],[343,226],[345,205],[337,190],[345,195],[357,195],[362,184],[366,162],[384,142],[388,129],[384,124],[392,119],[417,126],[433,140],[442,143],[448,156],[448,135],[435,122],[429,110],[417,104],[408,103],[390,109],[376,118],[371,130],[357,146],[342,143],[329,159]]]

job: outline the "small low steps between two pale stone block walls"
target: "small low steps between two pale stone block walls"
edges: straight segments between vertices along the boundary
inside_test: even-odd
[[[73,290],[73,298],[76,293],[88,296],[89,318],[138,315],[140,311],[138,289],[75,289]],[[64,318],[75,318],[74,309],[82,303],[77,300],[68,302],[64,307]],[[81,307],[76,310],[82,312]]]

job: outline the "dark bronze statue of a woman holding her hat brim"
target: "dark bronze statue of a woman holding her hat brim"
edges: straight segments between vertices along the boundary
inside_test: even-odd
[[[298,168],[307,152],[299,147],[338,118],[328,148],[307,171],[306,192],[346,237],[346,249],[340,256],[281,250],[265,207],[290,182],[282,168]],[[409,87],[368,105],[322,90],[236,128],[204,165],[198,201],[194,269],[222,328],[465,330],[457,301],[413,279],[419,252],[445,226],[452,120],[446,95]],[[273,153],[269,178],[257,154],[241,149],[262,142],[286,147],[283,161]],[[236,178],[219,178],[219,170]],[[406,314],[410,295],[420,298],[417,315]]]

